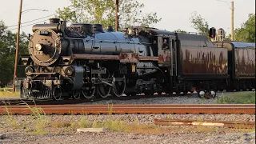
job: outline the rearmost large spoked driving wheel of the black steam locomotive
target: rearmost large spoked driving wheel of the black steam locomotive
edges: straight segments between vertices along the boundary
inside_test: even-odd
[[[113,93],[116,97],[122,97],[122,94],[126,90],[126,77],[123,76],[122,78],[115,78],[114,86],[113,86]]]

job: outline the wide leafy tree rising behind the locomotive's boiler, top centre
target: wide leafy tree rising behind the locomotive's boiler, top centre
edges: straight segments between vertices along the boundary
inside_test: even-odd
[[[71,6],[58,8],[58,17],[69,22],[101,23],[114,26],[114,0],[70,0]],[[119,0],[119,27],[122,29],[134,24],[150,26],[161,21],[156,13],[142,13],[144,4],[137,0]]]

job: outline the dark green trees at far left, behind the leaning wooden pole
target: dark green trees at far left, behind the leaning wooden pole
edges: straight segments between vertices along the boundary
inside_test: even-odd
[[[0,21],[0,80],[4,84],[13,79],[16,38],[16,34],[7,30],[4,22]],[[28,54],[28,41],[24,32],[20,35],[19,54]]]

